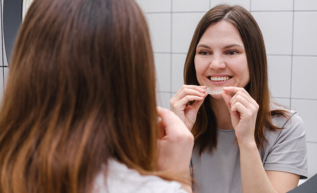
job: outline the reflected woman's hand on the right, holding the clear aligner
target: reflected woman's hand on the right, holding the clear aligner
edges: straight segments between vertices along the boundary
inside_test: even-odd
[[[246,92],[244,88],[223,87],[221,94],[231,114],[232,125],[235,129],[238,143],[255,142],[254,132],[258,103]],[[231,96],[229,93],[234,93]]]

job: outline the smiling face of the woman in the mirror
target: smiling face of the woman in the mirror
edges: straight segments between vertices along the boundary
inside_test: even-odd
[[[245,87],[250,81],[244,45],[237,28],[224,20],[211,25],[201,36],[195,55],[200,85],[220,91],[223,87]],[[221,98],[220,95],[212,95]]]

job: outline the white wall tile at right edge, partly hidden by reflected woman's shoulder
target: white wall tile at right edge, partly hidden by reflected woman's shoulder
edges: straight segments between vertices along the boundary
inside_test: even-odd
[[[297,111],[305,123],[306,141],[317,143],[317,100],[292,99],[291,106],[291,109]]]

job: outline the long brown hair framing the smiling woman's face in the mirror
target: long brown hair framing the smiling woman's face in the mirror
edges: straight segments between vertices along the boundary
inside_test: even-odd
[[[199,85],[194,64],[196,46],[207,28],[221,20],[233,24],[238,29],[243,41],[250,73],[250,82],[245,89],[259,104],[255,139],[258,147],[263,147],[264,142],[267,142],[264,136],[264,127],[269,130],[279,128],[271,123],[271,116],[287,116],[287,113],[283,110],[270,111],[264,40],[261,30],[250,12],[241,6],[218,5],[201,18],[194,32],[185,61],[184,82],[185,84]],[[196,123],[192,128],[192,133],[195,136],[195,145],[198,145],[200,153],[206,148],[209,149],[209,152],[212,152],[212,149],[217,146],[217,122],[214,112],[210,108],[211,105],[211,97],[207,96],[199,109]]]

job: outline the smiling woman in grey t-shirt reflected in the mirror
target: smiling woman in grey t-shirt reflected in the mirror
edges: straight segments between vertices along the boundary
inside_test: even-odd
[[[194,190],[286,192],[306,178],[304,123],[271,101],[263,37],[247,10],[218,5],[201,18],[184,80],[170,105],[195,137]]]

